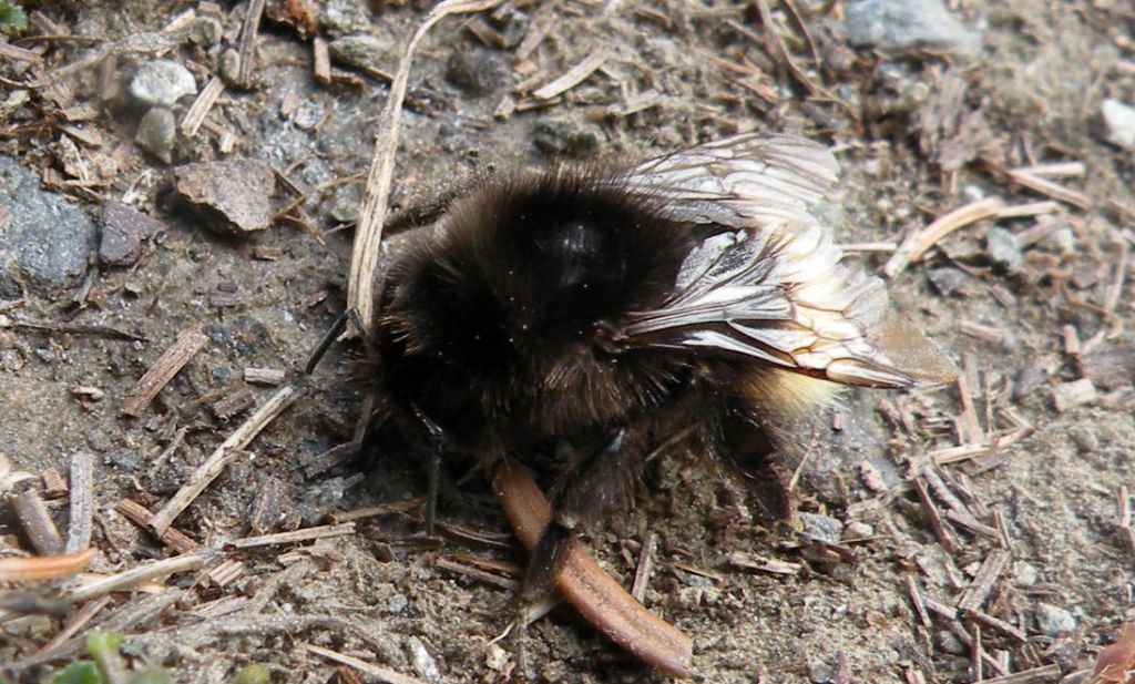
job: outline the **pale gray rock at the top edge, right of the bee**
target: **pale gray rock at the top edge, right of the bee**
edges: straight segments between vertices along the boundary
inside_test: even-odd
[[[848,42],[894,52],[918,49],[973,54],[982,36],[961,25],[941,0],[856,0],[844,6]]]

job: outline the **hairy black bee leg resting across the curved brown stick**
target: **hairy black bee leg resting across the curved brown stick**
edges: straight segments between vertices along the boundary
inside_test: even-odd
[[[570,473],[552,499],[552,522],[532,549],[521,582],[520,598],[529,603],[545,597],[580,531],[625,503],[642,470],[642,449],[631,444],[627,430],[614,437]]]

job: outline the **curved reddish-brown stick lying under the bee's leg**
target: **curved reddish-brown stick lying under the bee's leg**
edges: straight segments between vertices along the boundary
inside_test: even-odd
[[[552,521],[544,492],[527,468],[511,461],[497,467],[494,485],[516,537],[531,550]],[[672,677],[690,676],[690,637],[636,601],[582,543],[572,542],[556,588],[587,622],[642,662]]]

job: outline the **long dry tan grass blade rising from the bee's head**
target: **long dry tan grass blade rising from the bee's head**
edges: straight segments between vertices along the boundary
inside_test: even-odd
[[[394,176],[394,154],[398,147],[402,130],[402,102],[406,96],[406,82],[413,64],[418,43],[430,28],[445,17],[491,9],[502,0],[446,0],[426,17],[414,32],[402,54],[398,70],[390,82],[390,94],[376,124],[375,157],[367,175],[367,187],[359,211],[354,246],[351,252],[351,273],[347,280],[347,306],[359,312],[362,321],[369,322],[375,313],[375,271],[378,268],[378,246],[382,242],[382,222],[386,220],[386,203],[390,196],[390,179]],[[352,335],[353,323],[348,326]]]

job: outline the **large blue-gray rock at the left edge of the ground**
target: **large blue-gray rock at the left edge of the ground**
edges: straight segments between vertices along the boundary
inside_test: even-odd
[[[19,296],[20,284],[42,293],[74,285],[96,239],[94,222],[77,206],[0,157],[0,295]]]

